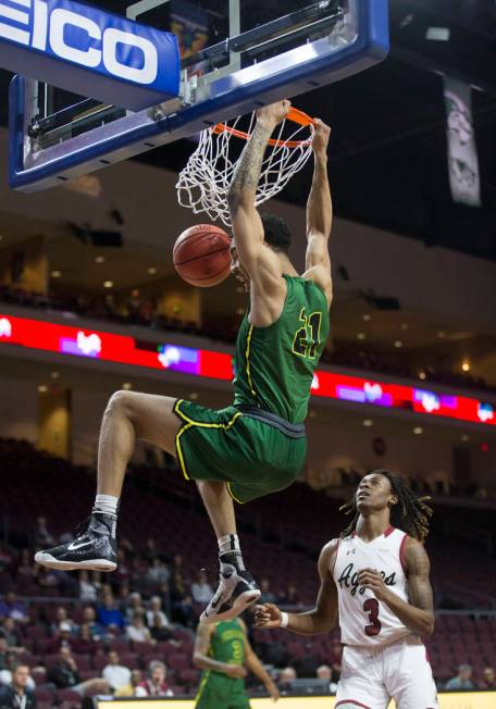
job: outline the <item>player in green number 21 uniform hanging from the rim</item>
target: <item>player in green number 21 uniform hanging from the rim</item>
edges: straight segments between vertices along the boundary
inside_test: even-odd
[[[301,276],[288,257],[287,226],[277,217],[260,217],[255,208],[269,138],[289,108],[289,101],[280,101],[258,111],[228,194],[234,233],[232,273],[250,297],[236,344],[233,406],[212,411],[172,397],[114,394],[100,433],[98,489],[91,514],[73,542],[38,551],[38,563],[67,570],[116,568],[117,505],[126,465],[139,438],[177,456],[184,475],[197,481],[215,531],[220,583],[202,619],[235,618],[260,597],[243,562],[233,499],[248,502],[284,489],[300,473],[307,453],[303,421],[313,372],[330,332],[332,301],[327,250],[331,129],[324,123],[315,121],[306,271]]]

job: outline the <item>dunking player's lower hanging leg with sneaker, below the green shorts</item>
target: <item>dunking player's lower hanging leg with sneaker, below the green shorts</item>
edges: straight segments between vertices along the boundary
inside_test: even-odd
[[[201,614],[203,623],[218,623],[240,615],[260,598],[260,589],[237,552],[234,505],[225,483],[198,481],[203,505],[220,542],[219,586]],[[222,545],[225,551],[222,552]],[[230,548],[232,546],[232,549]],[[239,547],[238,547],[239,549]]]

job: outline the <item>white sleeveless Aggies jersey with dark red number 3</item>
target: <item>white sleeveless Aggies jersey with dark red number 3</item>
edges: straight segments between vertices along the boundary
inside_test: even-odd
[[[399,640],[411,631],[372,590],[358,583],[363,569],[380,572],[390,592],[408,602],[408,580],[402,551],[408,535],[390,526],[372,542],[357,534],[339,539],[333,577],[339,602],[342,642],[354,646],[380,646]]]

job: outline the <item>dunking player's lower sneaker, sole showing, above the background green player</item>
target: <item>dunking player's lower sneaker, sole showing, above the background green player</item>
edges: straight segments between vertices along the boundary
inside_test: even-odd
[[[218,623],[237,618],[260,595],[260,588],[249,571],[240,571],[234,564],[221,561],[218,589],[201,613],[200,622]]]

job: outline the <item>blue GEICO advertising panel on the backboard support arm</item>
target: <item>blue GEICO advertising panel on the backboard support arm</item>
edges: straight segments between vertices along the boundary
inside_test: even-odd
[[[132,111],[179,91],[174,35],[72,0],[0,0],[0,66]]]

